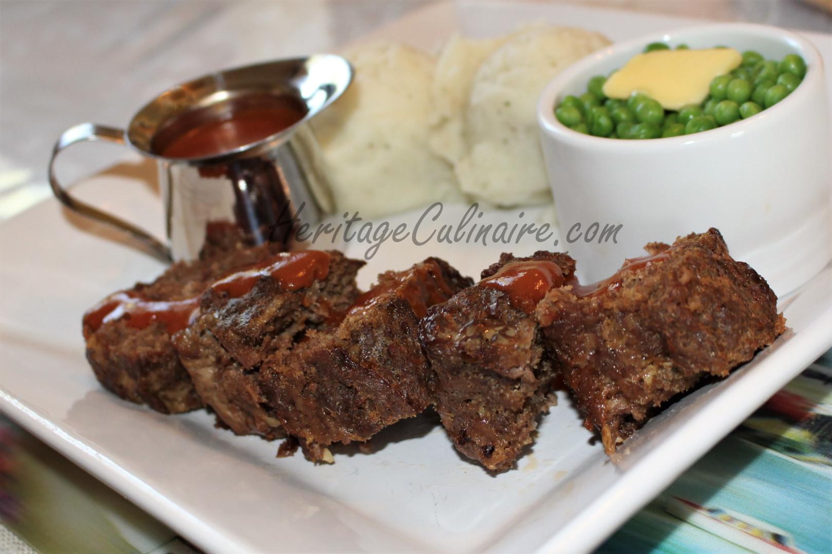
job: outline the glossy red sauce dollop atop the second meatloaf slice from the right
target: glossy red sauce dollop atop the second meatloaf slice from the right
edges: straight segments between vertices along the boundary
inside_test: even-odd
[[[563,282],[563,272],[557,263],[529,260],[508,263],[479,284],[505,292],[512,306],[530,314],[547,292],[562,287]]]

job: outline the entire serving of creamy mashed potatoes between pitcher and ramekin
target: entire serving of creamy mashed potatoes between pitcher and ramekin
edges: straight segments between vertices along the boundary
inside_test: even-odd
[[[504,207],[550,203],[537,98],[607,44],[597,32],[539,24],[452,37],[438,60],[395,42],[344,52],[353,84],[313,120],[336,208],[377,218],[466,194]]]

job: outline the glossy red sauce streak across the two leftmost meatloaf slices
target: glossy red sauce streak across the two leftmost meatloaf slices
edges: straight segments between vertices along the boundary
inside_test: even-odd
[[[329,254],[319,251],[280,252],[247,269],[231,273],[210,287],[236,298],[249,292],[262,277],[272,277],[280,288],[295,291],[310,287],[316,279],[329,274]],[[84,338],[98,331],[105,323],[126,317],[127,325],[144,329],[154,322],[165,324],[168,335],[185,329],[200,306],[200,293],[185,300],[155,301],[141,298],[136,292],[116,292],[84,314]]]

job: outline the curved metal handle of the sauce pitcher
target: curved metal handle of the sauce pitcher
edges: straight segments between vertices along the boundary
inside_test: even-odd
[[[115,127],[106,127],[104,125],[96,125],[94,123],[80,123],[65,130],[60,137],[58,137],[55,147],[52,148],[52,157],[49,159],[49,184],[52,186],[52,192],[60,200],[63,205],[70,208],[73,212],[80,213],[82,216],[94,219],[101,223],[106,223],[111,227],[130,233],[134,238],[137,238],[142,243],[145,243],[156,256],[161,257],[166,262],[171,261],[171,248],[165,243],[162,243],[158,238],[153,237],[150,233],[136,227],[132,223],[126,222],[124,219],[116,218],[116,216],[103,212],[98,208],[93,208],[88,203],[75,199],[67,189],[64,189],[55,176],[55,159],[57,154],[65,148],[76,144],[77,142],[85,142],[87,140],[106,140],[107,142],[116,143],[116,145],[125,144],[124,131],[116,129]]]

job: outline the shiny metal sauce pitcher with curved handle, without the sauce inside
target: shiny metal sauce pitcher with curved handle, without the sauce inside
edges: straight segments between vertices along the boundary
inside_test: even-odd
[[[295,225],[316,223],[333,208],[308,122],[344,92],[352,76],[344,58],[320,54],[218,71],[174,86],[141,108],[126,131],[92,123],[66,130],[49,161],[52,192],[67,208],[130,233],[166,260],[195,259],[214,223],[235,224],[253,243],[272,240],[290,248]],[[173,159],[152,149],[156,133],[177,116],[249,92],[293,96],[307,113],[286,130],[218,155]],[[87,140],[126,144],[157,160],[166,242],[82,203],[62,186],[54,169],[57,154]]]

